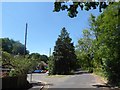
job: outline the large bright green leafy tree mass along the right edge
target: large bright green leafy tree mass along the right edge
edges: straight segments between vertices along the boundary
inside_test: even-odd
[[[105,61],[105,70],[108,75],[108,80],[112,84],[118,84],[120,82],[119,6],[120,2],[109,6],[102,14],[102,18],[98,19],[102,21],[99,26],[99,29],[101,30],[99,35],[99,43],[103,43],[109,49],[109,54],[104,53],[107,55]]]

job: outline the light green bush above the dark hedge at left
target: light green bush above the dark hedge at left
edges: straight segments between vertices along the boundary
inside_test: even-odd
[[[10,71],[10,76],[26,75],[29,70],[32,70],[37,65],[36,61],[23,56],[15,56],[11,63],[14,65],[14,70]]]

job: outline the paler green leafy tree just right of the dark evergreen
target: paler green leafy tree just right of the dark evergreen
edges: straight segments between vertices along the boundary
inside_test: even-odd
[[[89,72],[92,72],[92,41],[90,31],[83,30],[83,38],[78,40],[78,45],[76,46],[76,54],[81,63],[81,68],[87,69]]]

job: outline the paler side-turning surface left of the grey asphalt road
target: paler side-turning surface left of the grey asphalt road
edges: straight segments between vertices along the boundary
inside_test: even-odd
[[[32,73],[32,75],[28,74],[27,80],[33,85],[29,90],[42,90],[43,88],[56,85],[56,83],[64,82],[68,77],[68,75],[48,76],[47,73]]]

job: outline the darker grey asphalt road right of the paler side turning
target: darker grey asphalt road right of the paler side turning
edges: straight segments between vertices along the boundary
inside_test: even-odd
[[[64,82],[56,83],[54,86],[50,86],[49,88],[94,88],[96,84],[96,80],[92,75],[84,74],[84,75],[74,75]]]

